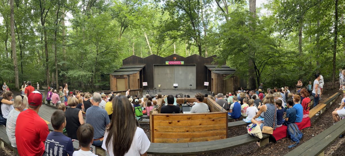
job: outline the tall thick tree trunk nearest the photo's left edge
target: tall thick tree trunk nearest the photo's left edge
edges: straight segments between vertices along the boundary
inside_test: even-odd
[[[19,77],[18,77],[18,66],[17,66],[17,52],[16,52],[16,36],[14,35],[14,0],[10,0],[11,7],[11,48],[13,56],[13,67],[14,67],[14,86],[19,89]]]

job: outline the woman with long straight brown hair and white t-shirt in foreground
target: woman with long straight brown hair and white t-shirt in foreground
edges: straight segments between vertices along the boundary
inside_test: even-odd
[[[120,95],[111,102],[113,113],[110,126],[104,134],[102,148],[107,150],[110,156],[146,156],[150,141],[144,130],[137,127],[128,98]]]

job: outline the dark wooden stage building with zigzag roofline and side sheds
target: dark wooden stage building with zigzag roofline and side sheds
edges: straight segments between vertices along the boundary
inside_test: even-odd
[[[183,57],[172,54],[165,58],[152,54],[146,58],[132,55],[122,60],[123,66],[110,74],[110,89],[123,91],[129,89],[207,89],[217,93],[234,92],[239,87],[235,70],[226,65],[216,68],[213,64],[216,55],[204,58],[200,55]],[[232,75],[229,79],[226,76]],[[147,82],[147,86],[142,86]],[[208,86],[204,82],[209,82]]]

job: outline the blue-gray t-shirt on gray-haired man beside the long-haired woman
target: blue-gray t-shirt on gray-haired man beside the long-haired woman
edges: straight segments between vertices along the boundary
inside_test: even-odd
[[[99,139],[104,136],[106,125],[110,123],[110,119],[106,110],[91,106],[86,110],[86,123],[92,125],[94,129],[93,139]]]

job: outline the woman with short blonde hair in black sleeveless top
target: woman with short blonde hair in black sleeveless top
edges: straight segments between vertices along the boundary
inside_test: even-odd
[[[77,139],[77,130],[84,123],[82,112],[77,107],[79,100],[76,97],[70,97],[67,100],[69,108],[66,110],[66,131],[71,139]]]

